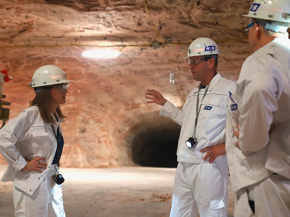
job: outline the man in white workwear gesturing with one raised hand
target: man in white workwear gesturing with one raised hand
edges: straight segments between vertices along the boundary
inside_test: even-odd
[[[234,91],[235,84],[217,73],[218,54],[212,39],[198,38],[189,46],[185,58],[192,78],[200,84],[181,110],[156,90],[146,93],[152,100],[147,103],[163,106],[160,114],[181,126],[170,217],[227,216],[226,94]]]

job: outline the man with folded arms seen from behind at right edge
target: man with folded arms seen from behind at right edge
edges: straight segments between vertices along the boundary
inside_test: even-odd
[[[290,1],[256,0],[245,16],[254,53],[226,123],[235,216],[290,216]]]

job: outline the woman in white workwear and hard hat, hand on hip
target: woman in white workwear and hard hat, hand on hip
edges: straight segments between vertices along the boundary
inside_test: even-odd
[[[66,117],[59,105],[66,103],[67,82],[57,66],[38,68],[30,107],[0,130],[0,152],[9,163],[1,181],[13,181],[15,216],[65,216],[58,163]]]

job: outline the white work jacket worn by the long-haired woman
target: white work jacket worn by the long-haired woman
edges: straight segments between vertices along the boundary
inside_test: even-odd
[[[56,113],[57,115],[57,113]],[[59,118],[60,122],[64,122]],[[58,129],[59,122],[54,124]],[[60,133],[62,130],[60,127]],[[0,130],[0,150],[9,163],[1,181],[13,181],[14,186],[32,195],[49,172],[57,148],[57,141],[49,123],[43,121],[37,106],[31,106],[11,119]],[[43,157],[48,164],[42,173],[21,171],[27,164],[24,158]]]

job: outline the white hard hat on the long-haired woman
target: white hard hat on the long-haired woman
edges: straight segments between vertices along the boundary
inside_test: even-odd
[[[64,71],[57,66],[43,65],[34,72],[32,76],[31,87],[35,88],[53,84],[61,84],[70,81],[73,80],[67,80]]]

